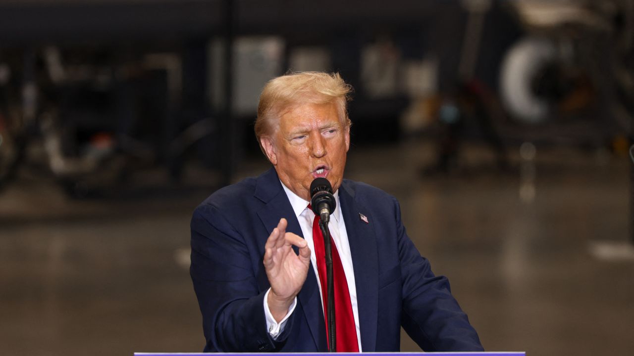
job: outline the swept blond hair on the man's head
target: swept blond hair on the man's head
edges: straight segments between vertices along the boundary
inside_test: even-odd
[[[280,119],[284,110],[297,104],[334,103],[342,127],[350,127],[346,105],[352,91],[352,86],[346,84],[339,73],[295,72],[269,80],[257,105],[255,131],[260,148],[260,137],[273,134],[275,120]]]

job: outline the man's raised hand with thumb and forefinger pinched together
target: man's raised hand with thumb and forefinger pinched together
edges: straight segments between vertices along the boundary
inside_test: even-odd
[[[286,232],[286,227],[286,219],[280,219],[264,245],[264,269],[271,284],[267,303],[278,322],[287,314],[288,307],[302,289],[311,264],[311,250],[306,240]],[[295,254],[292,246],[299,247],[299,255]]]

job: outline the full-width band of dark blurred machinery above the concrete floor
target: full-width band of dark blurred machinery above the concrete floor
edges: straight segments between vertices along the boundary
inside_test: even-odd
[[[632,136],[634,0],[36,3],[0,1],[0,189],[22,163],[69,193],[144,165],[178,181],[192,148],[229,182],[287,68],[342,73],[356,142],[438,118],[441,168],[474,127],[500,167],[509,141]]]

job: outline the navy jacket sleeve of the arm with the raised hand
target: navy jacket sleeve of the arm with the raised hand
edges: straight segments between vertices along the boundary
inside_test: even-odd
[[[222,213],[200,205],[191,219],[190,275],[203,318],[205,352],[268,352],[283,346],[285,332],[273,340],[266,329],[264,295],[249,246]]]

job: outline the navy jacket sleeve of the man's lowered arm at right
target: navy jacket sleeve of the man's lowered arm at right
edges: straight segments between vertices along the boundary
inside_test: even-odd
[[[403,276],[403,329],[426,352],[483,351],[475,329],[451,295],[448,279],[434,275],[427,258],[407,236],[396,199],[394,217]]]

